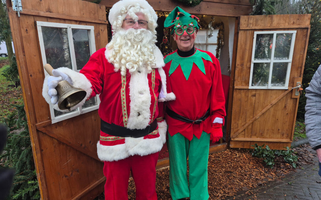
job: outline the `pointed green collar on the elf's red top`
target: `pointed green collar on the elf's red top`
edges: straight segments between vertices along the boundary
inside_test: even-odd
[[[205,74],[205,66],[204,62],[202,60],[209,60],[212,61],[212,58],[205,52],[201,52],[198,49],[196,49],[196,52],[189,56],[189,57],[180,57],[177,52],[174,52],[164,59],[165,64],[169,61],[172,61],[170,63],[169,68],[169,76],[177,69],[177,67],[180,65],[181,69],[183,71],[183,74],[188,79],[189,75],[191,74],[193,63]]]

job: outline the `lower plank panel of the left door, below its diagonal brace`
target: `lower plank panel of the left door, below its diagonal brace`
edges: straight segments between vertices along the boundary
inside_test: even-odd
[[[72,199],[104,176],[100,161],[42,132],[39,136],[46,173],[50,174],[50,199]]]

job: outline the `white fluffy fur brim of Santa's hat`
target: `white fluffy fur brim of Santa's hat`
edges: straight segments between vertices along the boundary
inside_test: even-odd
[[[134,5],[134,4],[139,4],[141,8],[148,10],[151,15],[153,20],[156,22],[157,21],[157,14],[154,11],[153,7],[148,4],[147,1],[145,0],[121,0],[118,1],[117,3],[115,3],[113,5],[113,7],[111,7],[111,9],[109,10],[109,15],[108,15],[108,20],[110,22],[110,24],[113,24],[113,22],[117,19],[117,17],[119,15],[121,15],[121,8],[125,8],[127,9],[127,7],[129,5]]]

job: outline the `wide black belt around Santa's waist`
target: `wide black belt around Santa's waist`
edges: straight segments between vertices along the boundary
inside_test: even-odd
[[[157,120],[154,120],[152,124],[148,125],[144,129],[128,129],[126,127],[118,126],[116,124],[109,124],[104,120],[100,119],[100,130],[104,133],[117,136],[117,137],[140,138],[155,131],[156,128],[157,128]]]

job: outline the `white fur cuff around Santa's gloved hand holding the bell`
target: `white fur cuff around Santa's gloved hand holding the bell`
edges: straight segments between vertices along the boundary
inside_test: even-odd
[[[77,104],[76,106],[74,106],[74,107],[71,107],[70,109],[71,109],[71,110],[74,110],[74,109],[76,109],[76,108],[78,108],[78,107],[81,107],[81,106],[85,103],[85,101],[88,99],[88,97],[91,95],[92,90],[91,90],[91,83],[90,83],[90,81],[86,78],[85,75],[83,75],[83,74],[81,74],[81,73],[78,73],[78,72],[75,72],[74,70],[69,69],[69,68],[66,68],[66,67],[57,68],[56,70],[58,70],[58,71],[60,71],[60,72],[63,72],[63,73],[65,73],[66,75],[68,75],[68,76],[71,78],[74,87],[83,89],[84,91],[87,92],[86,97],[85,97],[80,103],[78,103],[78,104]],[[48,94],[48,77],[49,77],[49,75],[47,75],[47,76],[45,77],[45,80],[44,80],[44,82],[43,82],[43,86],[42,86],[42,96],[45,98],[45,100],[47,101],[47,103],[48,103],[49,105],[52,105],[51,100],[50,100],[51,97],[50,97],[50,95]],[[52,106],[53,106],[53,108],[54,108],[55,110],[58,110],[58,111],[61,111],[61,112],[67,112],[67,111],[68,111],[68,109],[66,109],[66,110],[60,110],[60,109],[58,108],[58,104],[57,104],[57,103],[56,103],[55,105],[52,105]]]

